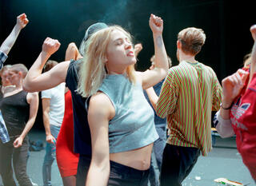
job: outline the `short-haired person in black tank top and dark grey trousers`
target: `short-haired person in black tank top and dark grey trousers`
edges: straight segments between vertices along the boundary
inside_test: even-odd
[[[15,64],[10,68],[10,84],[14,89],[6,89],[0,102],[2,116],[10,135],[10,141],[0,143],[0,174],[4,185],[16,185],[13,168],[19,185],[32,183],[26,174],[29,141],[26,134],[34,125],[38,113],[38,93],[26,93],[22,90],[22,81],[26,76],[25,65]]]

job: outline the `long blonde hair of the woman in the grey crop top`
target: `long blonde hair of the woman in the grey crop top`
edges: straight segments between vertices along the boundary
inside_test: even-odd
[[[78,93],[82,97],[90,97],[97,93],[104,77],[106,77],[106,49],[114,30],[122,31],[127,38],[131,39],[130,34],[121,26],[110,26],[95,32],[86,42],[85,56],[79,71],[78,81]],[[130,65],[126,69],[127,76],[133,83],[136,81],[134,71],[134,65]]]

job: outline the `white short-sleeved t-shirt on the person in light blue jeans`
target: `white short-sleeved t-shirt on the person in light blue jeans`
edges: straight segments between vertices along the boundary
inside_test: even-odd
[[[60,127],[62,125],[62,120],[64,116],[65,109],[65,83],[61,83],[52,89],[43,90],[41,93],[41,98],[50,99],[50,112],[49,120],[50,125],[55,125]]]

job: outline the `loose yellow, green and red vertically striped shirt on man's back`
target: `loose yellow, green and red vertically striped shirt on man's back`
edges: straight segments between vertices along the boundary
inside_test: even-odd
[[[170,68],[157,103],[166,117],[168,144],[195,147],[206,156],[211,149],[211,111],[219,109],[222,87],[214,70],[202,63],[181,61]]]

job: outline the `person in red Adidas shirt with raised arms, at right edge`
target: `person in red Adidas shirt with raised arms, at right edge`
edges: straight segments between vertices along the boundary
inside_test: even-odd
[[[243,69],[222,80],[222,105],[214,124],[221,137],[236,135],[238,152],[256,182],[256,25],[250,32],[252,52]]]

